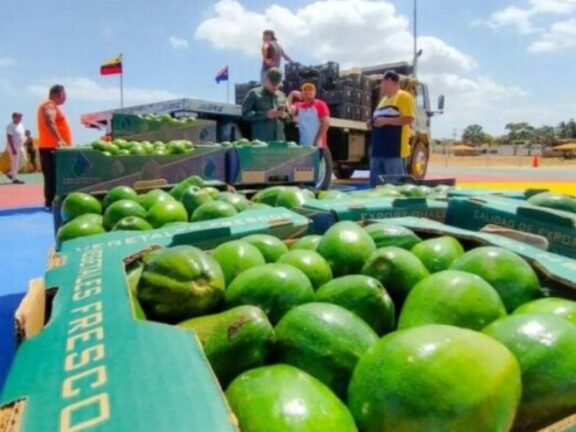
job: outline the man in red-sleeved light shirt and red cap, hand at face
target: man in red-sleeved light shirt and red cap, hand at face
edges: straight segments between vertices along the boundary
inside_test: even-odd
[[[300,99],[299,102],[293,102]],[[316,99],[316,86],[302,84],[301,91],[294,90],[288,95],[290,114],[298,116],[300,145],[326,148],[326,132],[330,127],[330,110],[322,100]]]

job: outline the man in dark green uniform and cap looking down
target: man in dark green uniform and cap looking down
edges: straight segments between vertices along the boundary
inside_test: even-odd
[[[248,92],[242,103],[242,117],[252,126],[252,139],[284,140],[284,121],[288,115],[286,95],[282,93],[282,72],[271,68],[264,83]]]

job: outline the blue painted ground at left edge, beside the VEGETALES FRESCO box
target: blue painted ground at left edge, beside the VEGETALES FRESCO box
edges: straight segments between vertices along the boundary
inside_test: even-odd
[[[53,245],[51,213],[36,207],[0,210],[0,389],[14,356],[14,311],[28,281],[44,276]]]

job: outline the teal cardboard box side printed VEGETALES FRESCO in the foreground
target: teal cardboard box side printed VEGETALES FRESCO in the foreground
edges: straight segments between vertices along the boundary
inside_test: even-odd
[[[285,209],[66,242],[17,313],[23,336],[0,400],[2,431],[237,431],[193,332],[137,318],[125,263],[154,247],[306,232]]]

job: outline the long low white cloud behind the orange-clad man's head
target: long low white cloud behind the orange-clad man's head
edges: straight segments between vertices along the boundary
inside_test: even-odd
[[[46,97],[48,89],[56,82],[62,83],[66,87],[66,92],[70,100],[115,105],[120,99],[118,86],[103,86],[94,80],[82,77],[43,80],[38,84],[28,86],[27,91],[40,98]],[[125,105],[138,105],[161,100],[177,99],[179,97],[181,97],[181,95],[166,90],[150,90],[135,87],[124,88]]]

